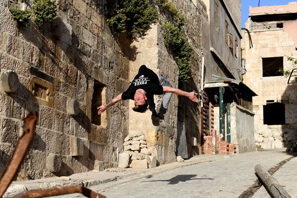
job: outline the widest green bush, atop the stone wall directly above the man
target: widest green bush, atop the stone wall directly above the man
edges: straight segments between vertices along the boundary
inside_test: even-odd
[[[107,0],[106,18],[113,32],[136,38],[146,35],[158,14],[149,0]]]

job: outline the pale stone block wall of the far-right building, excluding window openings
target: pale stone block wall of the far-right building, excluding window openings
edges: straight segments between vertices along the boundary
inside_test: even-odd
[[[250,27],[251,21],[246,22]],[[269,23],[277,23],[270,21]],[[292,21],[282,21],[284,27],[292,24]],[[261,24],[261,23],[259,23]],[[263,22],[262,24],[267,24]],[[294,23],[293,23],[294,24]],[[290,27],[292,29],[294,27]],[[258,148],[282,148],[288,147],[297,141],[297,97],[294,77],[288,84],[286,76],[263,77],[262,58],[283,56],[283,68],[291,72],[293,63],[286,56],[297,57],[294,38],[285,28],[271,30],[254,30],[250,32],[252,45],[250,48],[247,32],[243,33],[243,53],[246,59],[247,73],[244,83],[258,96],[253,97],[254,132]],[[263,105],[267,100],[285,104],[285,124],[266,125],[263,123]]]

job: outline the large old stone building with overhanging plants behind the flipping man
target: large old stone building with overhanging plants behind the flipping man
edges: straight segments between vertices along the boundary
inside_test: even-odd
[[[184,32],[194,49],[192,75],[185,90],[198,92],[206,7],[201,1],[173,2],[187,19]],[[15,92],[5,91],[1,84],[1,171],[21,134],[22,119],[30,111],[38,112],[39,119],[21,167],[26,179],[117,167],[124,139],[132,134],[146,136],[157,164],[176,161],[178,148],[186,148],[189,157],[201,152],[200,106],[186,99],[173,97],[165,116],[166,129],[154,127],[149,112],[132,111],[133,102],[127,100],[97,115],[99,105],[128,88],[142,64],[178,87],[177,64],[165,48],[161,25],[153,24],[147,36],[131,43],[124,35],[111,33],[104,4],[103,0],[57,0],[58,19],[39,29],[33,23],[16,26],[8,10],[30,9],[29,2],[0,0],[1,76],[17,74],[19,80]],[[160,14],[161,19],[167,17]],[[157,105],[160,99],[155,98]],[[178,123],[186,142],[179,141]]]

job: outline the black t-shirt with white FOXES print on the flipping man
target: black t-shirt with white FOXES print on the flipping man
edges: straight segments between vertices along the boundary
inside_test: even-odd
[[[163,87],[159,85],[158,76],[146,65],[142,65],[138,74],[133,79],[129,88],[122,94],[122,99],[134,100],[136,90],[143,89],[146,91],[148,99],[153,99],[153,95],[162,95]]]

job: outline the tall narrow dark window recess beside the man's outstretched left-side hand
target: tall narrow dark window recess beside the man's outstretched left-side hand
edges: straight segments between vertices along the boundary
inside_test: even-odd
[[[104,85],[97,80],[94,80],[94,93],[92,98],[92,118],[91,123],[101,125],[101,115],[98,115],[97,107],[102,105],[102,92]],[[104,98],[104,97],[103,97]]]

